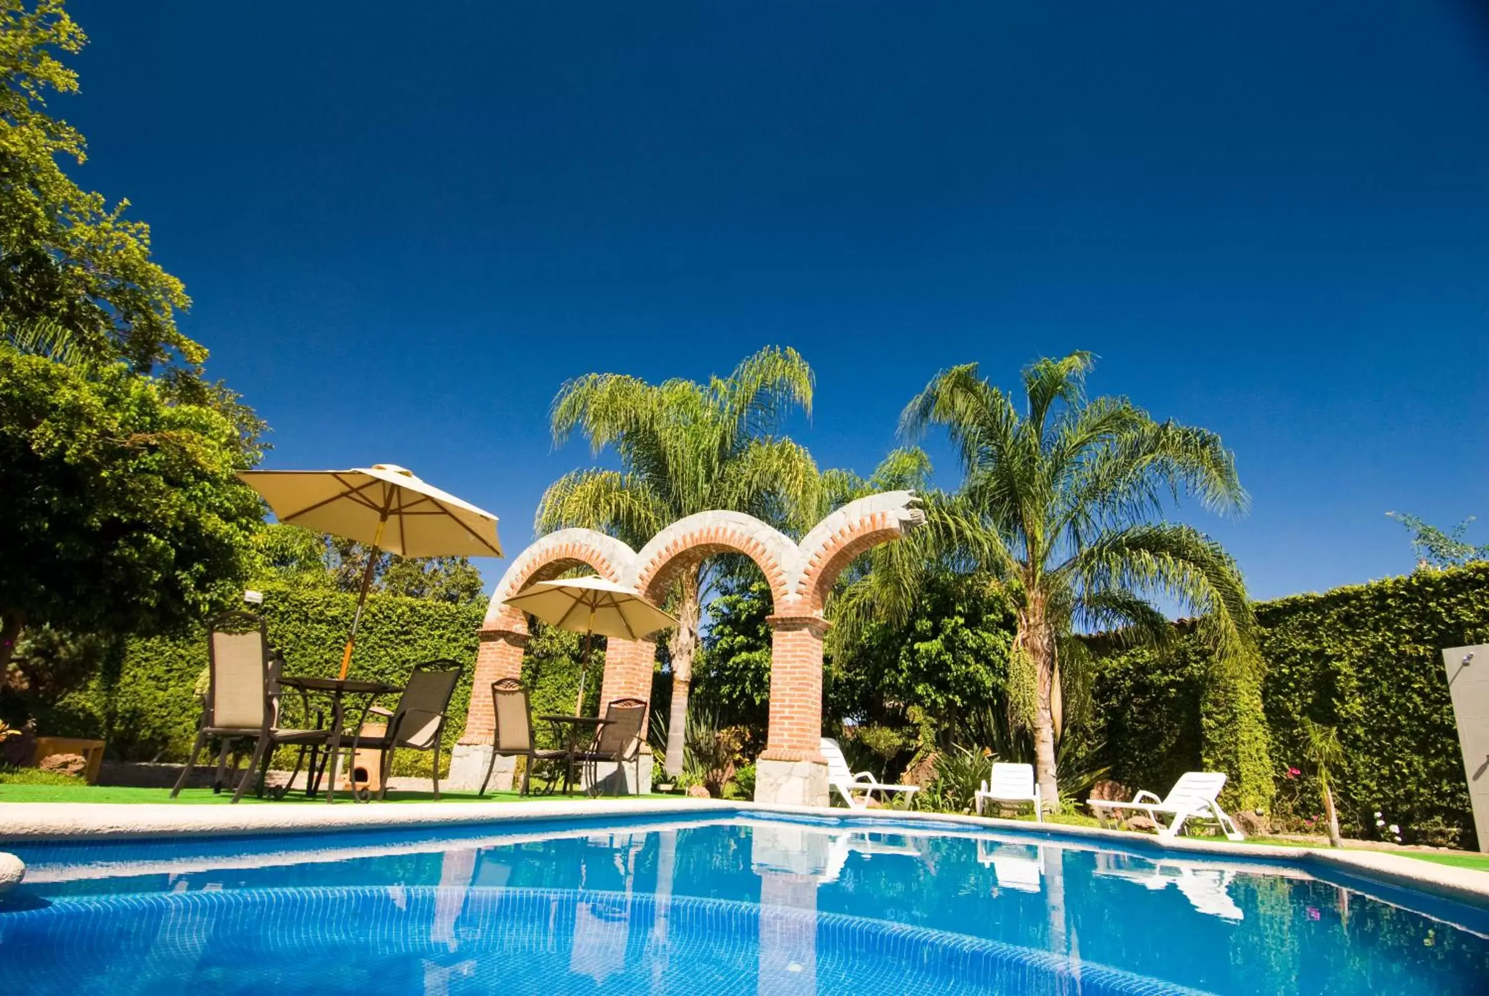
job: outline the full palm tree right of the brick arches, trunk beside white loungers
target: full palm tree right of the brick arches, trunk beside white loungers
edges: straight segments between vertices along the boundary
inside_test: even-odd
[[[1033,730],[1047,805],[1059,805],[1062,657],[1080,633],[1161,640],[1172,627],[1150,601],[1167,596],[1202,615],[1224,660],[1249,660],[1251,609],[1231,557],[1191,526],[1161,521],[1166,499],[1243,511],[1234,459],[1205,429],[1155,421],[1126,398],[1087,399],[1090,353],[1023,371],[1024,405],[975,363],[937,377],[901,415],[919,436],[944,426],[965,479],[954,521],[963,549],[1002,581],[1017,607],[1010,700]]]

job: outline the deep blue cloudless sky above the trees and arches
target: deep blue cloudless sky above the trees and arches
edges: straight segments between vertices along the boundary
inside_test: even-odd
[[[79,179],[153,226],[265,466],[405,465],[515,554],[590,463],[567,377],[794,345],[791,435],[868,472],[937,369],[1087,348],[1234,448],[1251,515],[1179,517],[1258,597],[1409,570],[1388,509],[1489,534],[1467,3],[70,9]]]

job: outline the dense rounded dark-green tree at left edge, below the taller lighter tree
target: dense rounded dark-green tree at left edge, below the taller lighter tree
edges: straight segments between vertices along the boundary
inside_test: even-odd
[[[130,634],[237,594],[261,529],[222,412],[0,345],[0,664],[22,627]]]

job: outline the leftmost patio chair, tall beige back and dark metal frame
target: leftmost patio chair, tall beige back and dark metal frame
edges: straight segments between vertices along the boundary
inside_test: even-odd
[[[216,791],[222,791],[223,765],[234,740],[253,740],[253,761],[238,779],[232,801],[243,798],[243,791],[259,779],[259,794],[272,759],[272,749],[298,746],[295,774],[305,761],[305,750],[325,746],[329,730],[295,730],[280,727],[278,658],[271,654],[264,619],[252,612],[223,612],[207,622],[207,697],[203,700],[201,722],[197,727],[197,741],[192,744],[186,767],[176,779],[171,798],[186,786],[197,756],[207,746],[208,737],[219,737],[222,749],[217,755]],[[308,706],[307,706],[308,719]]]

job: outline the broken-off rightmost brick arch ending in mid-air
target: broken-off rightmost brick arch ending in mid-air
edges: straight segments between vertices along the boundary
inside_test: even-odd
[[[880,543],[899,539],[925,523],[911,491],[884,491],[849,502],[817,523],[801,540],[798,573],[792,578],[798,604],[822,612],[843,569]]]

